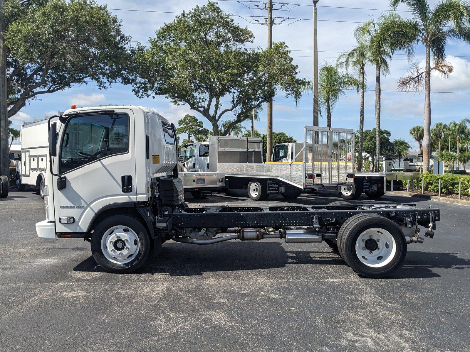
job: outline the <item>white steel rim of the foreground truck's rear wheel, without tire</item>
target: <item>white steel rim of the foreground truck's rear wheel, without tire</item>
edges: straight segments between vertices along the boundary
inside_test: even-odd
[[[356,240],[358,259],[368,267],[387,265],[395,256],[397,245],[392,234],[376,227],[363,231]]]

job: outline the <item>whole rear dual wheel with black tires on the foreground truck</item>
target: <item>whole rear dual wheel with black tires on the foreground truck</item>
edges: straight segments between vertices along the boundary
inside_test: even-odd
[[[391,274],[407,254],[405,236],[397,224],[376,214],[346,220],[337,241],[343,260],[356,273],[370,278]]]

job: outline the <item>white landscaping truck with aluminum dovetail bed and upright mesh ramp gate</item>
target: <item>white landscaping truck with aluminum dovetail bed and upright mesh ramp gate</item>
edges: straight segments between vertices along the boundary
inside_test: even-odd
[[[273,193],[295,199],[302,191],[338,189],[345,185],[353,188],[354,165],[348,155],[354,150],[354,131],[305,126],[304,132],[304,143],[276,145],[273,152],[276,161],[265,163],[261,138],[211,136],[209,173],[192,169],[196,165],[205,168],[206,163],[197,161],[197,145],[187,145],[181,168],[183,186],[194,183],[194,179],[187,177],[200,172],[201,184],[202,178],[213,177],[212,182],[205,183],[206,187],[246,187],[252,200],[266,200]],[[225,180],[225,186],[218,180]]]

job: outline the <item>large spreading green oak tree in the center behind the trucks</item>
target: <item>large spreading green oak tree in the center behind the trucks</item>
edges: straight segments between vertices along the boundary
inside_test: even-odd
[[[296,77],[285,43],[250,49],[253,34],[223,13],[215,2],[192,9],[165,24],[136,48],[133,86],[138,97],[165,96],[211,122],[214,135],[226,135],[251,117],[281,88],[299,99],[303,80]],[[221,128],[221,118],[231,116]],[[220,122],[220,123],[219,123]]]

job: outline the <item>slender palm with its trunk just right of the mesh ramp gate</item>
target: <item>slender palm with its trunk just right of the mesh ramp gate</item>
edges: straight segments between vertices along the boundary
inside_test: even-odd
[[[356,28],[354,32],[358,46],[351,51],[343,53],[338,56],[336,66],[340,69],[346,69],[348,72],[351,69],[360,81],[360,110],[359,110],[359,140],[358,140],[358,153],[362,155],[362,144],[364,136],[364,91],[366,89],[366,65],[369,63],[369,43],[366,36],[361,30]],[[358,159],[358,171],[362,171],[362,158]]]

